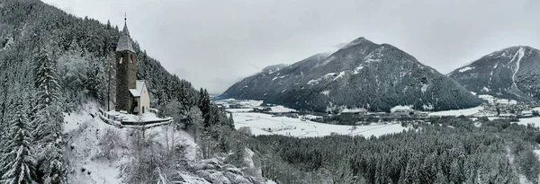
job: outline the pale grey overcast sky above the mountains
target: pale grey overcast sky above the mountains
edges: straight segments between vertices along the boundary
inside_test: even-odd
[[[44,0],[123,26],[166,69],[223,92],[265,66],[358,37],[389,43],[446,74],[495,50],[540,48],[537,0]]]

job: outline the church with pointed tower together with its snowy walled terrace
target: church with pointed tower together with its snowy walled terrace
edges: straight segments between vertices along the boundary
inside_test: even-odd
[[[158,118],[150,108],[148,83],[137,80],[137,56],[130,38],[127,19],[114,53],[116,66],[116,102],[114,110],[99,110],[103,122],[116,127],[153,127],[168,124],[173,118]]]

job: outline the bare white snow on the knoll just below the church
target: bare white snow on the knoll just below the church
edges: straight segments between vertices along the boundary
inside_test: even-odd
[[[120,170],[118,166],[126,161],[124,153],[126,150],[116,150],[119,153],[119,159],[109,161],[98,158],[99,142],[107,130],[116,131],[123,138],[129,137],[131,128],[117,128],[105,124],[96,114],[98,108],[94,103],[86,104],[84,110],[76,113],[65,114],[64,133],[67,134],[67,151],[65,156],[70,162],[71,171],[67,176],[68,183],[121,183],[119,178]],[[187,146],[186,157],[190,160],[195,159],[196,148],[193,137],[184,131],[166,131],[164,127],[152,127],[148,130],[148,135],[156,133],[157,141],[164,142],[166,137],[169,140],[175,140],[175,144],[185,144]],[[125,140],[119,140],[127,144]]]

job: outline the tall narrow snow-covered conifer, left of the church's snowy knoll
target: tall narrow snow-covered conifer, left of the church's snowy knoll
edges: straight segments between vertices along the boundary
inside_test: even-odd
[[[58,104],[56,62],[50,59],[47,50],[43,48],[36,60],[35,87],[38,93],[32,124],[36,127],[34,137],[37,145],[38,176],[42,183],[64,183],[67,174],[61,145],[64,117]]]

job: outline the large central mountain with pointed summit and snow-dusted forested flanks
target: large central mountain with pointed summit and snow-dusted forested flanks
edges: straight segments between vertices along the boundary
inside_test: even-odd
[[[233,84],[221,96],[264,100],[298,110],[454,110],[482,101],[460,84],[389,44],[359,38],[277,71]]]

